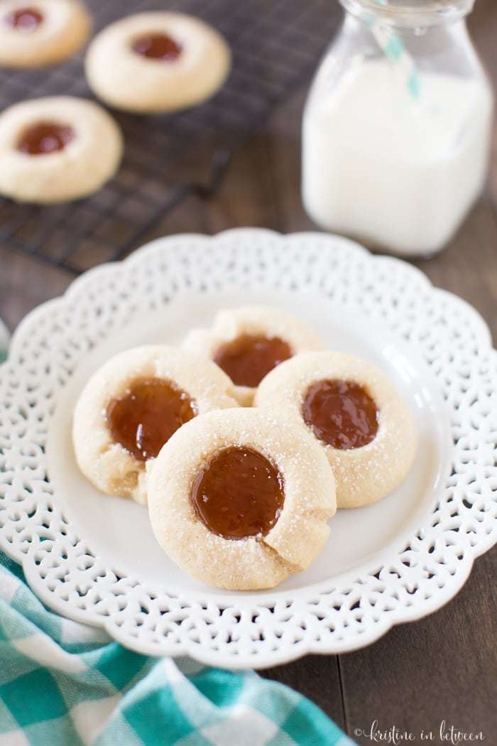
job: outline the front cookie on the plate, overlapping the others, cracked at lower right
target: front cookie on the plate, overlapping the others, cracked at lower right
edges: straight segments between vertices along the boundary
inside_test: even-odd
[[[303,427],[262,410],[212,412],[165,444],[148,484],[153,533],[203,583],[273,588],[329,536],[335,480]]]

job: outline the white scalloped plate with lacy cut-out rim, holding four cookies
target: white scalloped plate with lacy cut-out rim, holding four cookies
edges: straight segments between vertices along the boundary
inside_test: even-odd
[[[417,416],[420,450],[393,495],[333,518],[308,571],[228,593],[169,562],[145,508],[84,480],[70,424],[88,375],[115,352],[177,342],[248,302],[379,363]],[[0,545],[46,604],[136,651],[227,668],[350,651],[440,608],[495,543],[496,400],[487,326],[407,263],[322,233],[159,239],[87,272],[16,331],[0,368]]]

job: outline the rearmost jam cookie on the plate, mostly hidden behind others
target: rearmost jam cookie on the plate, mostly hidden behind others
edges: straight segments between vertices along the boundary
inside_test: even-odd
[[[183,348],[211,358],[231,377],[243,407],[252,405],[262,378],[283,360],[324,347],[306,324],[265,306],[222,310],[210,329],[194,329],[183,342]]]

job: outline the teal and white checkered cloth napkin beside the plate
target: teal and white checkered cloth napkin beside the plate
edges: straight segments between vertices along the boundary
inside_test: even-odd
[[[0,360],[6,346],[0,322]],[[253,671],[147,658],[57,616],[0,552],[0,745],[83,744],[353,746],[317,706]]]

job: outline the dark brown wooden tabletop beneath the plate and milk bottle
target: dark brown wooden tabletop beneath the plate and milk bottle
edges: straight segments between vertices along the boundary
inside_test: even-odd
[[[477,0],[472,34],[497,84],[497,1]],[[181,231],[215,233],[239,225],[279,231],[314,228],[300,202],[300,113],[304,94],[282,107],[236,155],[221,191],[210,202],[191,198],[150,236]],[[461,295],[497,337],[497,129],[486,192],[446,251],[416,263],[438,286]],[[0,246],[0,316],[14,328],[40,302],[60,295],[72,277]],[[440,722],[482,732],[497,745],[497,548],[480,557],[463,590],[439,612],[395,627],[362,651],[307,656],[264,675],[314,700],[354,736],[373,721],[386,730],[440,739]]]

